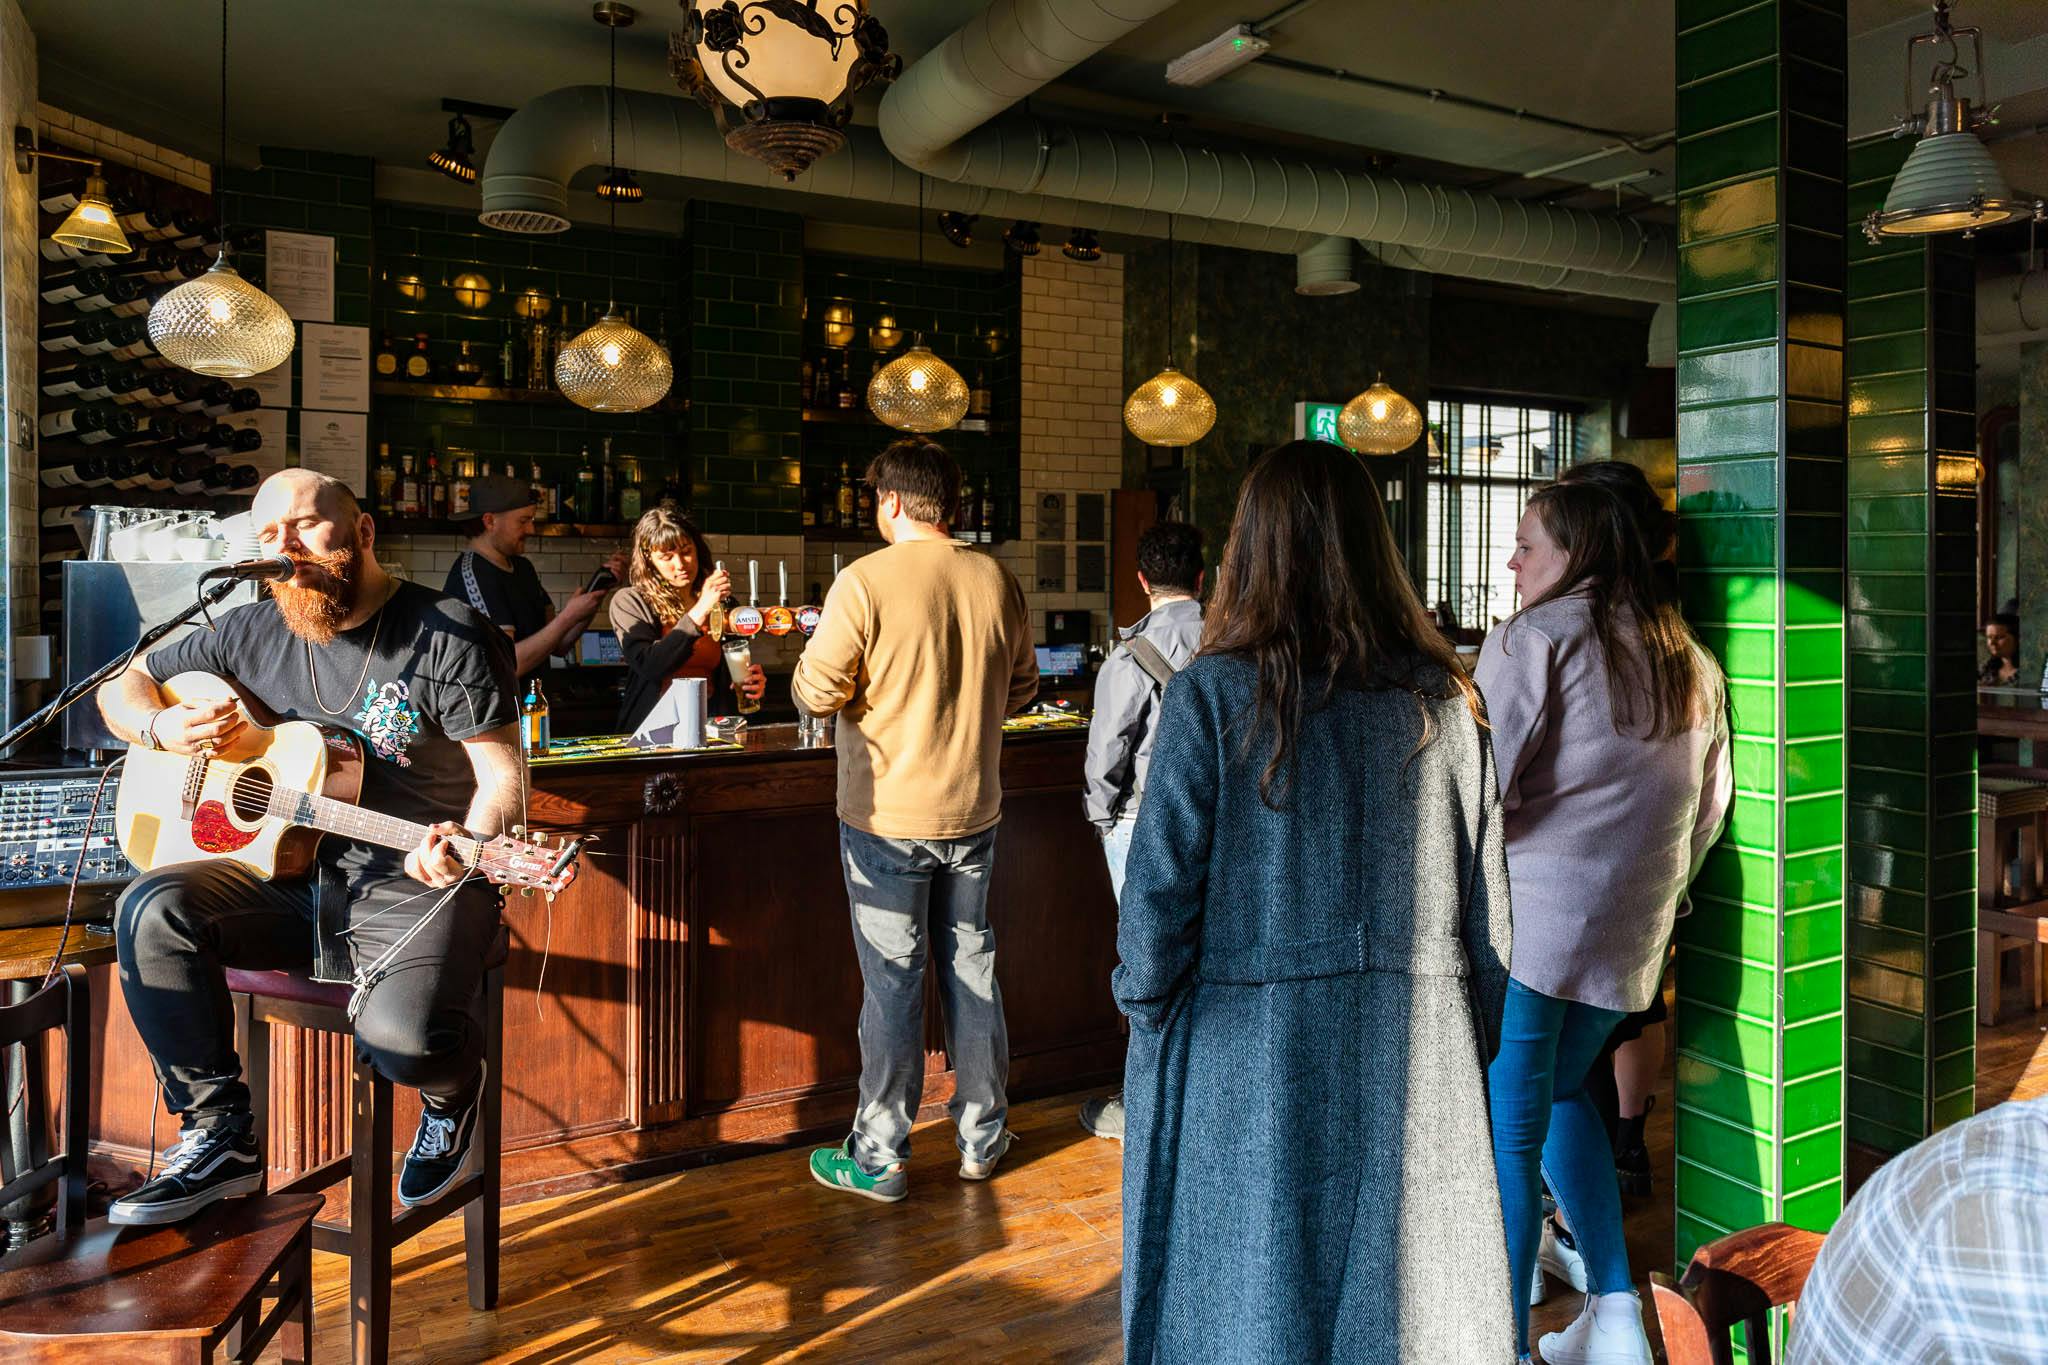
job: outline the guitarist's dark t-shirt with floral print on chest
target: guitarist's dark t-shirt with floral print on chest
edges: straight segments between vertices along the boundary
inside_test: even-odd
[[[215,626],[152,651],[143,667],[158,681],[219,673],[285,720],[354,733],[365,755],[360,804],[401,821],[461,821],[477,790],[461,741],[518,720],[504,632],[418,583],[399,583],[377,616],[328,645],[293,634],[268,598]],[[379,872],[406,857],[334,835],[322,851],[324,862]]]

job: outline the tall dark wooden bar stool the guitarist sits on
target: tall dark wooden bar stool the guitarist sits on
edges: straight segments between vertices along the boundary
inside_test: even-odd
[[[504,1115],[504,984],[510,933],[492,939],[483,970],[483,1109],[477,1113],[477,1162],[461,1183],[420,1207],[391,1207],[391,1083],[360,1058],[348,1087],[348,1152],[283,1187],[283,1193],[317,1193],[348,1181],[348,1222],[315,1222],[313,1244],[348,1257],[348,1340],[356,1365],[385,1365],[391,1353],[391,1252],[422,1228],[449,1214],[463,1214],[463,1252],[469,1271],[469,1306],[498,1308],[498,1191]],[[348,986],[309,980],[295,972],[227,972],[236,997],[236,1046],[248,1072],[256,1132],[268,1134],[270,1025],[293,1023],[324,1033],[354,1036]]]

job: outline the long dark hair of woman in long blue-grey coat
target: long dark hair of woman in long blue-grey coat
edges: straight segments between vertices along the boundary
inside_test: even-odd
[[[1460,692],[1479,714],[1456,651],[1409,583],[1372,475],[1356,454],[1321,440],[1276,446],[1245,475],[1202,653],[1257,667],[1241,743],[1249,755],[1272,733],[1260,798],[1276,810],[1300,718],[1337,688]],[[1430,739],[1425,708],[1421,745]]]

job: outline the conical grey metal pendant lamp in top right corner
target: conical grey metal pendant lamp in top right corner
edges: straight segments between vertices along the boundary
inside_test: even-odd
[[[1882,237],[1925,237],[1933,233],[1974,233],[1978,227],[2011,223],[2021,217],[2042,217],[2042,203],[2015,199],[1999,174],[1999,164],[1978,141],[1976,129],[1995,123],[1997,106],[1970,108],[1956,94],[1956,78],[1968,76],[1956,61],[1956,39],[1968,35],[1976,45],[1976,94],[1985,104],[1985,35],[1976,27],[1956,29],[1948,23],[1948,2],[1933,6],[1933,33],[1907,39],[1907,106],[1913,104],[1913,49],[1921,43],[1946,45],[1948,57],[1933,63],[1927,86],[1927,113],[1901,119],[1894,137],[1919,133],[1907,164],[1892,178],[1884,207],[1864,219],[1864,235],[1876,244]]]

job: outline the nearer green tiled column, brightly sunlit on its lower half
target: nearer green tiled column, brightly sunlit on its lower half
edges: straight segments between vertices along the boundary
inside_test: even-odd
[[[1679,1265],[1841,1212],[1845,55],[1841,0],[1677,0],[1679,567],[1737,786],[1679,921]]]

